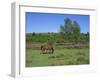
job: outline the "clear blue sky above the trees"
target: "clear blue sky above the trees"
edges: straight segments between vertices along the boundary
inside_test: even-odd
[[[64,19],[77,21],[81,33],[89,32],[89,15],[26,12],[26,33],[59,32]]]

